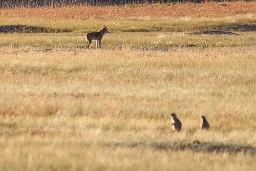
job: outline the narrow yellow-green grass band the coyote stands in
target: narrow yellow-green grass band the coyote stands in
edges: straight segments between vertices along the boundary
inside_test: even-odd
[[[111,30],[112,27],[109,28]],[[175,51],[177,48],[253,47],[254,32],[239,35],[195,35],[191,32],[117,32],[102,39],[103,49]],[[80,33],[10,33],[0,34],[1,47],[36,48],[38,50],[85,50],[85,35]],[[90,48],[95,49],[93,42]]]

